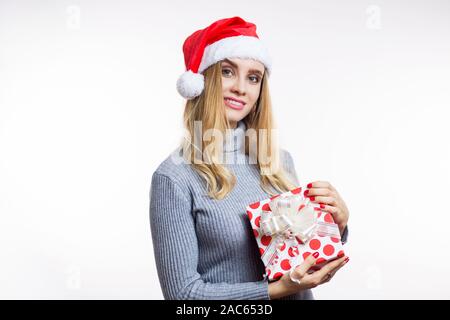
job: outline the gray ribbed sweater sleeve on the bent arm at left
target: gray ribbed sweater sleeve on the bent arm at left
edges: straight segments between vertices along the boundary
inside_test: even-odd
[[[197,272],[199,253],[192,200],[173,180],[155,172],[150,191],[151,233],[164,298],[269,299],[267,281],[210,283],[201,278]]]

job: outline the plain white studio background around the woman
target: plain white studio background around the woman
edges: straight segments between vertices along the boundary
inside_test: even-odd
[[[0,298],[162,298],[149,188],[181,46],[234,15],[270,49],[301,182],[350,209],[316,298],[450,298],[450,2],[425,0],[0,1]]]

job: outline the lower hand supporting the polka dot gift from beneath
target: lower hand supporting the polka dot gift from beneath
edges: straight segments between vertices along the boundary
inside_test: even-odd
[[[279,281],[271,284],[272,288],[269,285],[270,299],[281,298],[324,284],[330,281],[335,273],[349,261],[349,258],[344,256],[328,262],[318,271],[308,273],[308,270],[316,263],[317,256],[318,254],[316,256],[309,255],[292,273],[285,273]]]

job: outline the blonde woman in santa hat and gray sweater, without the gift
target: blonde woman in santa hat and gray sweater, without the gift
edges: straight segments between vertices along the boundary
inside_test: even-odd
[[[189,36],[183,52],[187,71],[177,89],[187,99],[187,135],[153,174],[150,194],[164,297],[312,299],[310,288],[329,281],[348,259],[309,274],[311,255],[269,283],[246,216],[248,204],[299,185],[290,154],[277,152],[272,141],[271,63],[256,26],[239,17],[218,20]],[[247,134],[252,129],[257,134]],[[348,210],[337,191],[318,181],[308,192],[333,214],[345,240]]]

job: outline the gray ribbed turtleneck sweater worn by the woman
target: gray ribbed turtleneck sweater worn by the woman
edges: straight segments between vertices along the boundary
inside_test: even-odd
[[[150,225],[165,299],[269,299],[246,206],[270,195],[260,187],[258,168],[249,164],[244,139],[245,124],[240,121],[224,144],[225,156],[235,160],[226,166],[237,179],[223,200],[211,199],[204,179],[177,161],[179,150],[152,176]],[[282,150],[281,160],[299,185],[290,154]],[[282,299],[312,298],[306,290]]]

